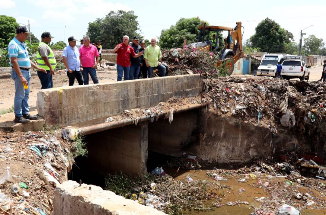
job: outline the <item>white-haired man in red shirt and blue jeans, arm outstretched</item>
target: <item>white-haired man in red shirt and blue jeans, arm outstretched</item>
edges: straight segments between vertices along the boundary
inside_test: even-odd
[[[128,80],[129,78],[129,71],[130,71],[130,56],[131,57],[139,57],[144,52],[140,52],[136,54],[134,49],[128,44],[129,37],[123,36],[123,42],[119,43],[114,48],[114,53],[117,53],[117,71],[118,71],[118,79],[117,81],[122,80],[122,75],[124,75],[124,81]]]

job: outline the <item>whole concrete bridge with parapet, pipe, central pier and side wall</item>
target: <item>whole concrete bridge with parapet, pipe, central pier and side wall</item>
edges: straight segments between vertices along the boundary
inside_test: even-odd
[[[268,128],[257,127],[230,116],[218,116],[201,100],[199,74],[140,79],[116,83],[40,90],[37,111],[50,126],[82,128],[88,142],[85,165],[99,175],[122,171],[146,171],[148,151],[181,156],[184,151],[221,163],[243,163],[257,156],[271,156],[280,147]],[[142,114],[160,102],[187,98],[173,108]],[[135,115],[125,116],[134,109]],[[173,121],[166,118],[173,113]],[[109,116],[117,120],[105,122]],[[120,116],[120,117],[119,117]],[[154,120],[155,118],[155,120]],[[287,139],[295,145],[296,139]],[[95,167],[95,168],[94,168]]]

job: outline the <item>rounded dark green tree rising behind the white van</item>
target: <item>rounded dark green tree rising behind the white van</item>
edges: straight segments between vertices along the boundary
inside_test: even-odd
[[[269,18],[258,23],[256,33],[250,37],[253,47],[260,52],[282,53],[285,44],[293,40],[293,34]]]

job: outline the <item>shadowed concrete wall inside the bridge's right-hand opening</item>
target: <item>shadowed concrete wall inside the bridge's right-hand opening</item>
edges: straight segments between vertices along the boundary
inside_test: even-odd
[[[175,157],[188,145],[198,143],[198,109],[173,115],[171,124],[159,119],[149,124],[148,150]]]

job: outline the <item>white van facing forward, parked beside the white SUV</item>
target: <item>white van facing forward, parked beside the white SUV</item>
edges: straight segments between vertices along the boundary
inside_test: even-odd
[[[282,64],[284,60],[290,59],[300,60],[301,57],[298,55],[288,54],[264,54],[258,67],[257,75],[274,76],[276,72],[277,62],[280,62]]]

